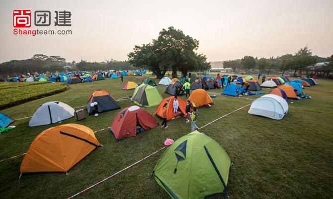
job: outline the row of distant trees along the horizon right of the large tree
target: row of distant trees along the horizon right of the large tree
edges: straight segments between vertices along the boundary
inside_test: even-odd
[[[231,68],[234,73],[238,70],[245,70],[250,74],[250,70],[258,70],[260,73],[267,71],[267,75],[271,71],[281,71],[282,75],[286,71],[293,71],[294,76],[298,71],[307,71],[309,66],[315,65],[318,62],[329,62],[327,68],[333,69],[333,55],[328,58],[313,56],[311,49],[308,46],[298,50],[295,55],[285,54],[279,57],[270,57],[269,59],[252,56],[245,56],[242,59],[229,60],[223,62],[223,68]]]

